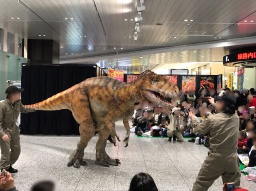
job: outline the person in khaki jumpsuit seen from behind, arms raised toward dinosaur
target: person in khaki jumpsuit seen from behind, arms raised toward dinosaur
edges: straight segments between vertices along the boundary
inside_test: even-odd
[[[235,187],[240,185],[240,166],[237,158],[237,141],[239,131],[239,118],[235,114],[236,100],[234,97],[222,96],[214,103],[209,98],[211,105],[218,112],[209,116],[200,123],[192,112],[193,131],[205,134],[210,133],[210,151],[204,160],[192,191],[206,191],[213,182],[222,177],[223,183],[234,182]]]

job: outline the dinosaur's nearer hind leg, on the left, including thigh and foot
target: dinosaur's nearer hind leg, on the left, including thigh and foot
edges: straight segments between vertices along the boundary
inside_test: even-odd
[[[74,95],[76,96],[72,99],[71,107],[74,118],[80,124],[80,141],[77,144],[77,148],[70,154],[67,165],[68,167],[73,165],[78,168],[80,165],[86,165],[85,160],[83,160],[84,149],[93,137],[95,127],[93,126],[88,98],[80,91],[76,91]]]

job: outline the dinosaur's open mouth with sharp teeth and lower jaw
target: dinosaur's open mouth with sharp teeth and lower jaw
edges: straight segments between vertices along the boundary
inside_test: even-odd
[[[145,99],[150,101],[151,103],[158,103],[162,106],[171,106],[171,102],[167,101],[167,96],[164,96],[163,94],[160,94],[159,92],[154,92],[151,90],[142,90],[141,94]],[[170,98],[170,97],[169,97]]]

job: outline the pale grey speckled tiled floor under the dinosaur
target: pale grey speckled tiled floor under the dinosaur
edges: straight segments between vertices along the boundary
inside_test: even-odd
[[[116,125],[123,139],[124,127]],[[67,167],[70,152],[76,147],[78,136],[21,136],[22,152],[14,167],[19,191],[28,191],[35,180],[54,177],[65,191],[127,191],[130,180],[139,172],[149,173],[160,191],[189,191],[198,174],[208,149],[193,143],[170,143],[167,138],[137,138],[133,133],[129,146],[120,142],[117,147],[107,144],[106,151],[112,158],[119,158],[121,165],[103,167],[95,164],[94,136],[85,149],[88,165],[76,169]],[[241,186],[256,190],[256,183],[241,176]],[[221,178],[211,191],[221,191]]]

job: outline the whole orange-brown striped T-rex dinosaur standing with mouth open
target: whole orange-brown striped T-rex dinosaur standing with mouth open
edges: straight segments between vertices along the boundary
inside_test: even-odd
[[[122,119],[127,130],[124,142],[128,145],[130,127],[128,119],[134,113],[134,103],[148,100],[159,105],[171,105],[165,97],[178,93],[176,84],[163,75],[145,71],[132,83],[120,82],[109,77],[93,77],[72,86],[44,101],[27,105],[39,106],[39,110],[69,109],[80,124],[80,141],[72,154],[68,166],[86,165],[84,149],[98,130],[96,143],[96,164],[118,165],[119,159],[112,159],[105,151],[109,134],[119,140],[115,132],[115,122]]]

